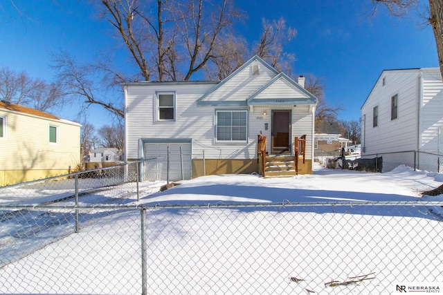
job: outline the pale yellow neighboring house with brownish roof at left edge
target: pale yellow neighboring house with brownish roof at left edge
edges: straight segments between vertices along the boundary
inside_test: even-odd
[[[0,101],[0,186],[69,173],[80,164],[81,125]]]

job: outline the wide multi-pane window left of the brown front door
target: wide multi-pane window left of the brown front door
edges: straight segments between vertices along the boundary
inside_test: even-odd
[[[216,111],[215,116],[217,142],[246,142],[247,111]]]

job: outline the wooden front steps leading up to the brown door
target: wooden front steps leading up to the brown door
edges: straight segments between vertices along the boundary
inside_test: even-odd
[[[266,155],[264,178],[291,177],[296,175],[296,162],[292,155]]]

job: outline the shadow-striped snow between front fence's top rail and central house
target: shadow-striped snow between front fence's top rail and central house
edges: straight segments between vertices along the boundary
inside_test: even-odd
[[[186,202],[328,202],[415,201],[421,192],[440,186],[443,175],[399,166],[389,173],[322,169],[313,175],[262,178],[260,175],[213,175],[153,193],[143,203]]]

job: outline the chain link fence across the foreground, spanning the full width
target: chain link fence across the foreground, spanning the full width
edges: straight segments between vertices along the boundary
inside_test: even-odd
[[[1,294],[391,294],[443,281],[442,202],[95,198],[0,205]]]

